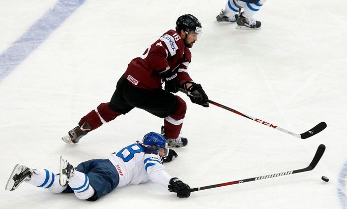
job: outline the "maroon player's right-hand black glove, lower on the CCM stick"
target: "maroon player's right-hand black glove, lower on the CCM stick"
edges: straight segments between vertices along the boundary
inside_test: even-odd
[[[192,85],[187,88],[187,83],[190,83]],[[209,103],[207,102],[207,99],[209,99],[209,97],[206,95],[203,87],[201,87],[200,84],[188,81],[183,85],[183,87],[190,92],[191,95],[187,95],[193,103],[201,105],[205,108],[210,107]]]

